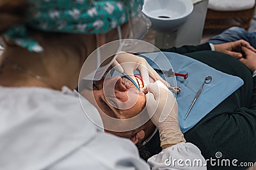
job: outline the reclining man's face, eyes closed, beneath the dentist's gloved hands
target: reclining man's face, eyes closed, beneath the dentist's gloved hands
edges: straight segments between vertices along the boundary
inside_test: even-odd
[[[146,103],[145,94],[136,89],[130,80],[120,76],[94,81],[93,96],[86,90],[83,90],[81,94],[94,103],[98,110],[100,109],[109,117],[119,119],[138,115]]]

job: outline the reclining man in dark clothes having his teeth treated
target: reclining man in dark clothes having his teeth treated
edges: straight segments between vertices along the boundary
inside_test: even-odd
[[[256,82],[256,77],[252,77],[252,72],[256,68],[256,54],[250,48],[247,48],[244,42],[241,43],[239,41],[234,44],[241,44],[240,50],[243,50],[244,55],[246,55],[245,61],[241,59],[239,61],[225,53],[212,52],[208,43],[199,46],[164,49],[163,51],[187,55],[224,73],[233,74],[243,79],[244,85],[242,87],[216,106],[184,136],[188,142],[200,148],[205,159],[214,158],[216,152],[221,152],[223,159],[255,162],[256,83],[253,82]],[[114,79],[115,81],[118,80],[115,85],[111,84]],[[94,103],[101,114],[103,113],[102,110],[104,110],[110,117],[130,118],[140,113],[145,106],[144,94],[136,90],[134,85],[126,78],[115,77],[113,80],[106,80],[106,85],[109,84],[109,87],[115,87],[117,100],[125,102],[131,97],[129,99],[132,99],[132,101],[136,100],[134,107],[129,108],[129,110],[118,110],[113,107],[112,103],[107,103],[103,97],[102,81],[95,81],[93,85],[93,94],[96,97],[97,104],[93,99],[89,100]],[[86,93],[86,91],[83,90],[83,93]],[[141,154],[147,160],[151,155],[161,152],[159,134],[157,132],[154,133],[154,130],[154,124],[148,120],[146,124],[133,131],[108,132],[131,139],[136,145],[143,148],[140,152],[148,153],[146,155]],[[143,143],[145,140],[146,142]],[[220,169],[220,167],[211,166],[207,168]]]

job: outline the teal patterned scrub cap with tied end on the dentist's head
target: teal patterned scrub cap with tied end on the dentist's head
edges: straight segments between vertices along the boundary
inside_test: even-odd
[[[28,22],[13,25],[6,36],[31,52],[44,49],[26,25],[40,31],[104,34],[141,11],[143,0],[29,0]]]

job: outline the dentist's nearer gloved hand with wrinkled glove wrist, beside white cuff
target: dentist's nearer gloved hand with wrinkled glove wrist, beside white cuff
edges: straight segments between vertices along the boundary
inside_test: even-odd
[[[178,121],[178,104],[172,92],[161,81],[150,83],[141,89],[147,93],[146,107],[148,115],[156,125],[161,140],[161,147],[167,148],[181,142],[186,142]]]

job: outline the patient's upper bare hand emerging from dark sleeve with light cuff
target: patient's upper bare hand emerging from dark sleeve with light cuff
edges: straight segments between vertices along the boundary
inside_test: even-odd
[[[220,45],[214,45],[214,48],[217,52],[227,53],[228,55],[232,55],[237,59],[243,57],[243,50],[242,48],[247,48],[248,50],[252,50],[252,52],[256,52],[255,48],[253,48],[250,43],[244,41],[243,39],[230,42],[230,43],[223,43]]]

